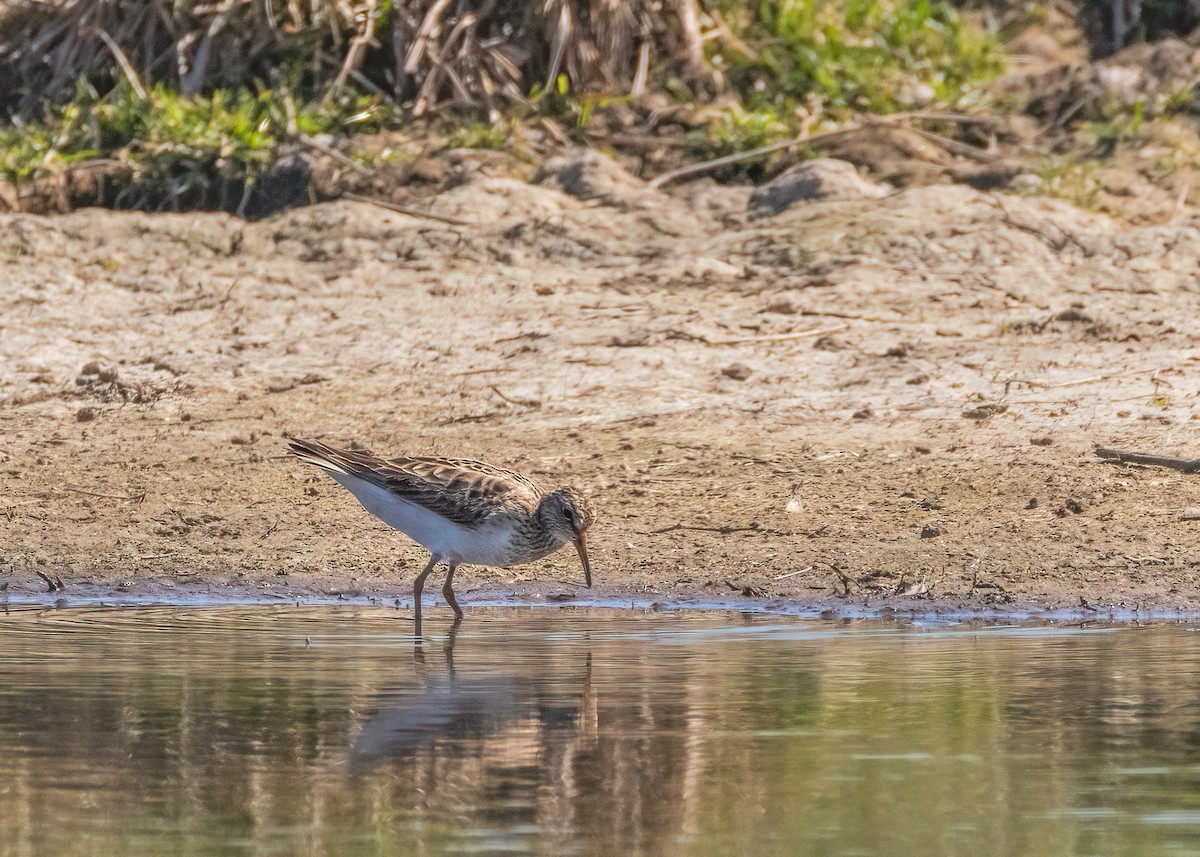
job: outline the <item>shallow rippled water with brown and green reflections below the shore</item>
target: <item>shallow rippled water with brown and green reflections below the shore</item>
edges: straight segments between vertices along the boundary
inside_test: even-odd
[[[1192,625],[403,617],[11,609],[0,855],[1200,852]]]

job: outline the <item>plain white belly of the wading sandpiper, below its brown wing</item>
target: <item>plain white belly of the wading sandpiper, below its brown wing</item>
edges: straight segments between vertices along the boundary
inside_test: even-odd
[[[479,529],[470,529],[403,501],[365,479],[344,473],[329,475],[344,485],[364,509],[425,546],[436,557],[472,565],[508,565],[511,562],[511,531],[503,525],[485,523]]]

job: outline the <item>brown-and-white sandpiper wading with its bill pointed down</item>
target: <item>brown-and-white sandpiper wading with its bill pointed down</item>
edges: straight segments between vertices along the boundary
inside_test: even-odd
[[[421,592],[425,579],[446,563],[442,594],[462,619],[454,594],[460,565],[509,567],[540,559],[575,545],[592,586],[587,532],[595,521],[588,498],[572,487],[542,491],[527,477],[469,459],[382,459],[288,437],[289,451],[325,471],[394,529],[430,552],[413,583],[413,619],[421,635]]]

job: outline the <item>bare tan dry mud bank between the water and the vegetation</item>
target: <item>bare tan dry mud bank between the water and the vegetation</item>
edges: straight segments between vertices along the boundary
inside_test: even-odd
[[[1093,454],[1196,454],[1195,210],[569,167],[475,170],[461,223],[0,216],[0,585],[404,597],[422,552],[294,433],[592,495],[596,595],[563,552],[467,604],[1200,610],[1200,477]]]

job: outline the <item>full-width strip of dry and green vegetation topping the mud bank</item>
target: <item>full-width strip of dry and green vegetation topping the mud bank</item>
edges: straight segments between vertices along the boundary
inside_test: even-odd
[[[1132,8],[1124,41],[1190,20]],[[0,208],[412,205],[446,188],[439,151],[536,164],[582,144],[642,178],[727,157],[704,172],[758,181],[838,154],[896,186],[1162,212],[1156,188],[1190,192],[1200,59],[1165,38],[1088,62],[1116,23],[1100,0],[20,0],[0,12]]]

